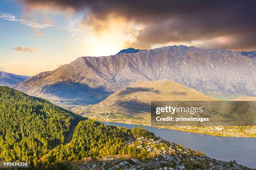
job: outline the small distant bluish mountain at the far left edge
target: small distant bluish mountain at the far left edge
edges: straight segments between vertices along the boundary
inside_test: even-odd
[[[15,75],[9,72],[0,71],[0,85],[11,87],[18,82],[28,79],[30,76]]]

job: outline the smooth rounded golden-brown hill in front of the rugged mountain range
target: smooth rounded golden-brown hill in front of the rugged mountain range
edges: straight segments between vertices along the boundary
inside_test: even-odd
[[[138,81],[89,106],[90,112],[137,114],[151,112],[151,101],[207,101],[217,100],[170,80]]]

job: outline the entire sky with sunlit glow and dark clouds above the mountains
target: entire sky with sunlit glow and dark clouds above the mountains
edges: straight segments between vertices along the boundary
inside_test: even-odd
[[[168,45],[256,50],[254,0],[1,0],[0,71]]]

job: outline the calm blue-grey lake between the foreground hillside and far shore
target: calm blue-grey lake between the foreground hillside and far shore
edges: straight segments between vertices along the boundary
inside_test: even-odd
[[[200,150],[201,153],[205,153],[211,158],[225,161],[236,160],[237,163],[256,168],[256,138],[219,137],[142,125],[103,123],[127,128],[141,126],[164,140],[181,144],[193,150]]]

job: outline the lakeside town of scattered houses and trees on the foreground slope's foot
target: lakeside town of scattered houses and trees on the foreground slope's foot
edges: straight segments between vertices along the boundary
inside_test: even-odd
[[[145,158],[114,155],[103,158],[84,158],[81,170],[250,170],[236,161],[220,161],[207,157],[200,151],[184,148],[165,140],[139,137],[129,139],[128,147],[148,153]]]

